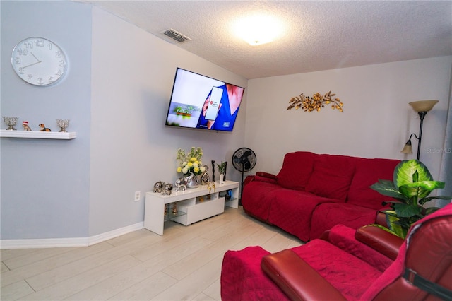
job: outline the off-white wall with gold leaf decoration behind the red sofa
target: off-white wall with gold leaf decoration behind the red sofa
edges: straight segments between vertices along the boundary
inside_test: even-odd
[[[408,102],[433,99],[439,103],[424,119],[420,160],[439,179],[443,153],[429,150],[444,146],[451,66],[452,57],[436,57],[250,80],[245,141],[256,151],[255,171],[277,173],[290,151],[416,158],[414,137],[414,154],[400,153],[420,126]],[[286,110],[300,93],[329,90],[343,101],[343,113]]]

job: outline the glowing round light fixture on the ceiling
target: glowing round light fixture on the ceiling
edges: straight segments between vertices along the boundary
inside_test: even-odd
[[[273,16],[255,14],[234,23],[234,33],[251,46],[273,42],[283,33],[283,24]]]

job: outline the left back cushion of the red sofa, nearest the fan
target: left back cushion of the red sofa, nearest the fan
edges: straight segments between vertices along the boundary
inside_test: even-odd
[[[276,182],[287,189],[303,191],[314,165],[315,153],[297,151],[284,156],[283,167],[276,176]]]

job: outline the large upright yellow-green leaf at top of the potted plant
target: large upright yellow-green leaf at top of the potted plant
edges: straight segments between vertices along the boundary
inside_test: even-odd
[[[420,160],[403,160],[394,169],[393,180],[399,188],[413,182],[433,181],[433,177]]]

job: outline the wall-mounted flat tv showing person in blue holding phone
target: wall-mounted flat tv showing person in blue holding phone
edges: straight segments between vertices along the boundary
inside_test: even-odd
[[[232,131],[244,90],[238,85],[177,68],[166,125]]]

